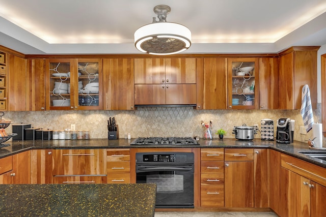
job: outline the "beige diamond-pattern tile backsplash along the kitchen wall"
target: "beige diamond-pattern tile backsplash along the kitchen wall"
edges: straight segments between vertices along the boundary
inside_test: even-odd
[[[300,110],[196,110],[193,107],[139,107],[133,111],[14,111],[5,112],[5,119],[13,123],[30,123],[34,128],[64,130],[75,124],[76,130],[90,130],[91,138],[107,138],[107,119],[115,117],[119,126],[119,136],[130,133],[132,138],[149,136],[200,136],[201,121],[213,122],[213,137],[216,131],[226,130],[226,138],[234,138],[234,126],[258,124],[264,118],[276,121],[281,117],[295,120],[294,140],[305,141],[311,138],[299,132],[303,126]],[[314,110],[315,122],[321,122],[321,105]],[[12,132],[8,127],[7,133]],[[255,138],[260,138],[260,133]]]

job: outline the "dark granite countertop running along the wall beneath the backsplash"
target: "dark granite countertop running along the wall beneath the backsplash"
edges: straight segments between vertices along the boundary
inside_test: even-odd
[[[252,141],[236,140],[234,138],[224,138],[220,140],[214,138],[213,140],[200,139],[199,145],[130,145],[135,138],[131,139],[89,139],[89,140],[25,140],[25,141],[9,141],[8,147],[0,148],[0,158],[10,156],[29,149],[58,149],[58,148],[153,148],[153,147],[199,147],[199,148],[270,148],[282,153],[289,154],[295,158],[316,164],[326,168],[326,161],[305,156],[298,151],[316,151],[309,149],[305,142],[294,141],[292,144],[279,144],[275,141],[262,141],[254,139]]]

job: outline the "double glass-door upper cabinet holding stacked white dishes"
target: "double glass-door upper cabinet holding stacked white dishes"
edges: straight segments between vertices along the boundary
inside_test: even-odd
[[[46,110],[103,108],[101,59],[47,59],[46,71]]]

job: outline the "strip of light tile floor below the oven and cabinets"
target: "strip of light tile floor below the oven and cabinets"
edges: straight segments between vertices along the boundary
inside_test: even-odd
[[[155,217],[275,217],[274,212],[155,212]]]

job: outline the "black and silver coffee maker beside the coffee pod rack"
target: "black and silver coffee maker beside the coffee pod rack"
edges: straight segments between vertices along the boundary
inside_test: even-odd
[[[293,143],[294,120],[290,118],[280,118],[277,120],[276,142],[290,144]]]

